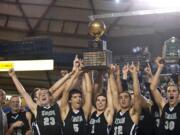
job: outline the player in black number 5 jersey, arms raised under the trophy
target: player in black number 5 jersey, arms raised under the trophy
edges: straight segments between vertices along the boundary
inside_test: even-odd
[[[91,111],[92,83],[90,75],[85,72],[82,79],[85,89],[66,89],[61,99],[61,117],[63,121],[63,134],[86,135],[87,119]],[[84,104],[82,104],[84,96]]]

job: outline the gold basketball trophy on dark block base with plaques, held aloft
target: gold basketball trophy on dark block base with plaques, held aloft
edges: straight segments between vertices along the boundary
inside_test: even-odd
[[[89,23],[89,34],[93,40],[83,53],[84,66],[88,69],[106,69],[112,63],[112,52],[107,50],[107,44],[101,37],[106,31],[104,22],[95,20]]]

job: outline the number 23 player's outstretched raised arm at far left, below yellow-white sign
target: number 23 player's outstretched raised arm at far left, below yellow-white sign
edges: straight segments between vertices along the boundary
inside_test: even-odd
[[[9,76],[12,78],[12,80],[13,80],[16,88],[17,88],[17,91],[23,96],[23,98],[25,99],[28,107],[30,108],[30,110],[36,116],[36,114],[37,114],[37,104],[35,104],[33,102],[31,96],[26,92],[23,85],[18,80],[18,78],[17,78],[17,76],[15,74],[15,71],[13,69],[9,70]]]

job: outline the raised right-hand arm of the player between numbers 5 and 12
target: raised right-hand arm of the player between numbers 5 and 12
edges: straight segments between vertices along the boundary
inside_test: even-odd
[[[107,108],[104,112],[104,116],[108,125],[112,125],[113,122],[113,115],[114,115],[114,107],[113,107],[113,99],[112,99],[112,90],[110,87],[110,78],[108,77],[108,84],[107,84]]]

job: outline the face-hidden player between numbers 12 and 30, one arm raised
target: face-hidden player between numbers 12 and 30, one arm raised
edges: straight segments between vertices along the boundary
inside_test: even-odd
[[[142,121],[140,120],[138,135],[159,135],[160,111],[150,90],[150,85],[153,78],[150,64],[147,64],[144,69],[144,73],[146,75],[145,87],[150,92],[150,99],[145,99],[141,102],[142,107],[144,108],[143,110],[146,113],[143,113],[143,111],[141,113],[141,115],[144,116],[144,119],[142,119]]]

